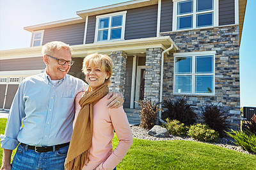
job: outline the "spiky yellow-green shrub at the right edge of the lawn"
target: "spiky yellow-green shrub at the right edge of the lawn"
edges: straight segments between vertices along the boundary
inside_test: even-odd
[[[226,132],[228,136],[236,140],[238,146],[244,150],[256,153],[256,136],[250,130]]]

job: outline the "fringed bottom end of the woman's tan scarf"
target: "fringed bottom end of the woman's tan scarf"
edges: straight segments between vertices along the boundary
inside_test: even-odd
[[[67,170],[80,170],[83,168],[83,166],[86,166],[89,159],[90,152],[88,150],[84,151],[80,155],[78,155],[76,158],[71,160],[70,162],[67,162],[65,164],[65,169]]]

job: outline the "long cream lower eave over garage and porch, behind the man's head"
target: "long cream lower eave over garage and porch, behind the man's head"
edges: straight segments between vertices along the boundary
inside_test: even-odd
[[[173,42],[170,36],[160,36],[153,38],[140,38],[134,40],[123,40],[116,42],[101,42],[89,43],[82,45],[72,45],[72,57],[81,58],[94,52],[110,54],[113,51],[123,50],[128,55],[142,55],[149,48],[167,49],[173,44],[172,52],[179,48]],[[0,51],[0,59],[15,59],[15,58],[33,58],[42,56],[42,47],[29,47],[24,49],[2,50]],[[143,54],[145,55],[145,54]]]

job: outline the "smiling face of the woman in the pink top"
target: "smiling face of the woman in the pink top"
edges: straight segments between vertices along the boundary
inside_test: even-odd
[[[92,90],[98,88],[109,77],[109,73],[104,71],[100,65],[88,65],[84,70],[86,81]]]

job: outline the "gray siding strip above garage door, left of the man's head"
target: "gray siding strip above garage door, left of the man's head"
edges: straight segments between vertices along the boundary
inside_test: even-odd
[[[43,57],[38,58],[18,58],[2,59],[0,61],[0,71],[15,70],[44,70],[45,64]]]

